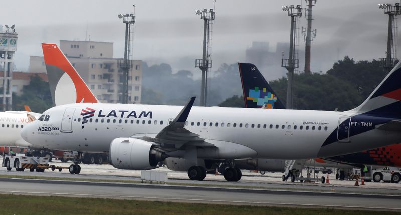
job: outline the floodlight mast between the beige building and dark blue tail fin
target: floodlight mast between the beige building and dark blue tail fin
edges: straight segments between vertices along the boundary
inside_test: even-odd
[[[200,15],[200,19],[204,20],[204,41],[202,49],[202,59],[195,60],[195,68],[199,68],[202,71],[202,76],[200,79],[200,106],[206,106],[206,96],[207,96],[207,71],[212,67],[212,60],[209,59],[210,53],[210,34],[211,25],[213,20],[215,20],[215,12],[213,9],[209,11],[207,9],[196,10],[196,15]]]

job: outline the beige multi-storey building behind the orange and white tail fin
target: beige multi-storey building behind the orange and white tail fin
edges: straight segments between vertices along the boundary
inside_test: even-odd
[[[112,42],[60,40],[60,49],[100,102],[121,103],[123,72],[113,58]],[[46,72],[43,57],[31,56],[29,72]],[[142,61],[129,71],[128,103],[141,101]]]

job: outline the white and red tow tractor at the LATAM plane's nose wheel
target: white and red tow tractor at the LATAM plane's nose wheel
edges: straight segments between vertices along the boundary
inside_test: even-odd
[[[52,169],[53,171],[58,169],[61,171],[63,168],[55,165],[49,165],[48,157],[36,157],[29,153],[29,148],[27,147],[11,147],[4,146],[3,150],[3,162],[2,167],[6,167],[7,171],[15,168],[16,171],[24,171],[29,169],[29,171],[44,172],[45,169]]]

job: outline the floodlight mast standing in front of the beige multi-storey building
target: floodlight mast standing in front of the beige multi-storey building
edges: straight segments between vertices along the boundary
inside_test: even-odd
[[[135,8],[135,5],[134,5]],[[128,81],[129,81],[129,70],[133,66],[132,59],[130,56],[132,52],[130,49],[132,48],[132,32],[133,26],[135,24],[135,16],[133,13],[131,14],[118,14],[119,19],[123,19],[123,23],[125,23],[125,45],[124,45],[124,59],[118,60],[118,66],[123,70],[123,80],[122,80],[122,103],[128,103]]]

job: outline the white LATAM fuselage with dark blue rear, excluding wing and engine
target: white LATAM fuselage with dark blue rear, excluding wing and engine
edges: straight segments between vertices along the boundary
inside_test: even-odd
[[[154,137],[181,109],[182,106],[67,104],[45,111],[21,135],[44,148],[108,152],[110,142],[118,137]],[[394,119],[350,111],[192,107],[185,128],[206,142],[219,142],[218,147],[223,147],[224,142],[244,146],[247,152],[243,158],[305,159],[400,142],[399,132],[375,129],[391,120]]]

